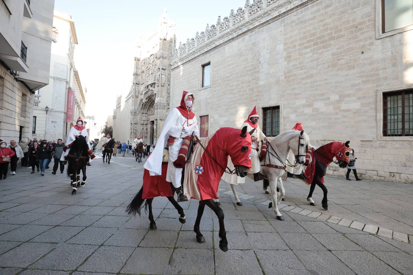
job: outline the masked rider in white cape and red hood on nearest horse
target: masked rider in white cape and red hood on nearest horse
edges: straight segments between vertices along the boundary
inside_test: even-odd
[[[192,132],[194,132],[195,136],[199,136],[197,118],[192,112],[194,99],[193,94],[183,91],[180,106],[173,108],[169,112],[157,144],[143,166],[149,171],[150,176],[161,175],[164,148],[165,146],[168,146],[169,162],[166,172],[166,181],[171,182],[176,189],[178,202],[188,199],[183,195],[183,188],[181,186],[182,168],[176,168],[173,166],[173,162],[178,158],[183,138],[191,135]]]

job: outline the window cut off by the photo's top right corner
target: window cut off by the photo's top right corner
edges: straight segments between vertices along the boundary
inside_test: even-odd
[[[382,32],[413,24],[413,0],[382,0]]]

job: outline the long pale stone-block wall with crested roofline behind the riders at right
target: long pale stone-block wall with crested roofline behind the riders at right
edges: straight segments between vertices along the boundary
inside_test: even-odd
[[[211,133],[256,105],[268,136],[301,122],[316,147],[350,140],[363,178],[413,183],[413,25],[383,2],[247,0],[173,50],[170,106],[194,93]]]

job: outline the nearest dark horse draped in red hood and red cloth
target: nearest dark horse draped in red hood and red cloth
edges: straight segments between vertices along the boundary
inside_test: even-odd
[[[218,129],[213,136],[204,139],[195,146],[190,162],[185,165],[183,185],[184,194],[188,198],[192,197],[199,200],[198,216],[194,226],[197,242],[205,242],[199,231],[199,224],[204,207],[208,205],[219,219],[219,237],[221,238],[219,247],[223,251],[228,250],[223,211],[212,198],[217,197],[218,183],[228,163],[228,155],[232,158],[236,168],[235,172],[240,176],[247,175],[247,170],[251,168],[251,143],[251,136],[247,132],[247,127],[242,130],[225,127]],[[142,204],[146,199],[145,211],[149,207],[151,229],[156,229],[156,223],[152,215],[152,200],[154,197],[167,197],[178,210],[180,214],[179,221],[185,223],[186,219],[182,207],[173,198],[171,183],[166,181],[166,167],[167,164],[162,166],[162,174],[159,176],[150,176],[149,172],[145,170],[143,186],[126,210],[129,214],[140,214]]]

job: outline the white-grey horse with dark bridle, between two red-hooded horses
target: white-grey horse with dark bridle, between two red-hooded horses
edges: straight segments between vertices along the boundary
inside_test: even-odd
[[[261,165],[263,165],[261,166],[261,174],[267,177],[267,179],[264,179],[263,188],[264,190],[268,190],[269,187],[271,190],[272,202],[268,207],[274,207],[275,216],[281,221],[283,221],[284,218],[279,212],[277,205],[280,204],[282,198],[285,197],[285,189],[281,179],[281,176],[285,171],[282,167],[285,167],[285,160],[287,159],[290,149],[296,158],[296,162],[299,164],[304,163],[308,144],[309,136],[304,131],[297,132],[290,130],[283,132],[271,139],[267,147],[266,159],[261,162]],[[234,193],[237,205],[242,205],[237,192],[235,191],[235,185],[230,184],[230,186]],[[277,192],[277,187],[280,192]],[[219,199],[216,200],[216,203],[219,205]]]

